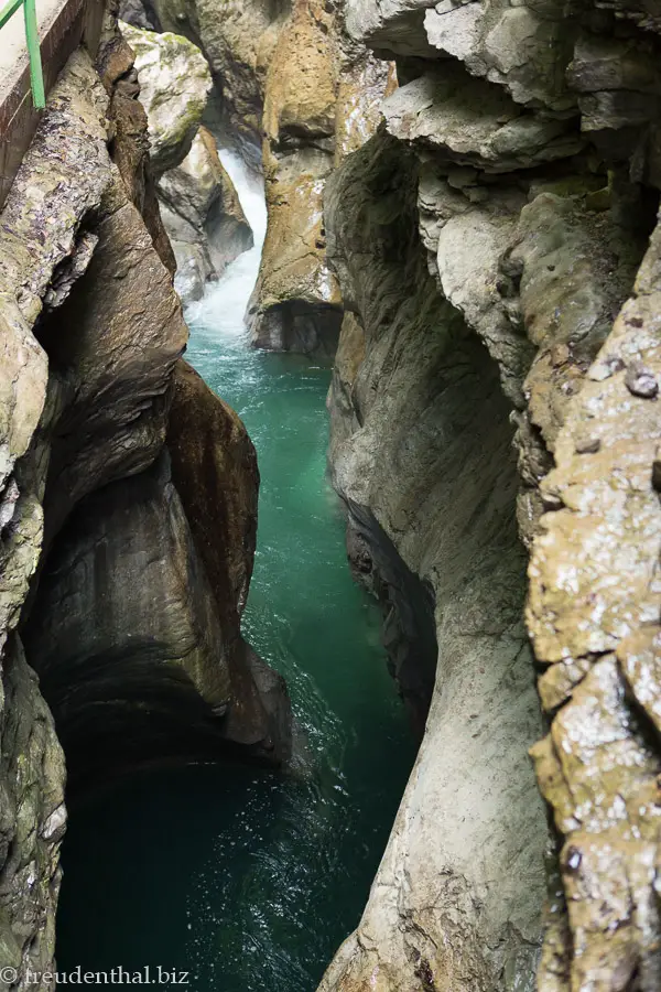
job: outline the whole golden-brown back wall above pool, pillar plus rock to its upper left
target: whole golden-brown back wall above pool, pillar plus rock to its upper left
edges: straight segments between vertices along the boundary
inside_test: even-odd
[[[144,21],[144,12],[122,9]],[[326,262],[324,186],[376,130],[391,67],[347,35],[342,6],[323,0],[156,0],[155,11],[159,26],[194,41],[208,61],[216,139],[264,174],[269,220],[249,306],[253,344],[333,355],[342,295]]]

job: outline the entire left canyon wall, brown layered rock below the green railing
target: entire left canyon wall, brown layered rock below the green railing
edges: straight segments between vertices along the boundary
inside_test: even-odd
[[[0,215],[0,948],[21,990],[53,967],[67,776],[289,754],[286,690],[239,629],[254,450],[181,357],[138,90],[109,10]]]

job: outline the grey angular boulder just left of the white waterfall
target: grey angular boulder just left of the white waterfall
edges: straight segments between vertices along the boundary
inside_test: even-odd
[[[205,282],[252,247],[250,225],[206,128],[182,164],[161,176],[159,196],[177,261],[175,288],[184,301],[198,300]]]

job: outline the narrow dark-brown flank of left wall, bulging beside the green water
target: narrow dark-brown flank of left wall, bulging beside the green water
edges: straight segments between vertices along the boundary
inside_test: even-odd
[[[226,736],[282,762],[291,748],[286,688],[240,634],[257,538],[257,455],[235,411],[185,362],[176,367],[167,449],[220,616],[230,679]]]

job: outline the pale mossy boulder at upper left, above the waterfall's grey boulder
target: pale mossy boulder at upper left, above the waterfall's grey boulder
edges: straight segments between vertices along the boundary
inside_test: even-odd
[[[136,53],[140,101],[149,119],[151,161],[156,175],[174,169],[191,151],[212,88],[202,52],[186,37],[156,34],[126,22],[121,32]]]

